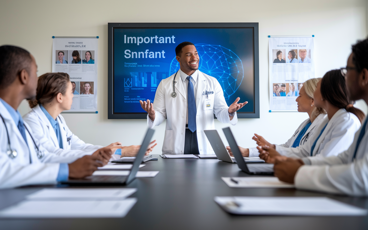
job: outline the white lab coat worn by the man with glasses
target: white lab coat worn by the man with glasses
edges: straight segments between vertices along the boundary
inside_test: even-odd
[[[333,194],[347,194],[354,196],[368,196],[368,125],[357,149],[353,161],[354,151],[360,134],[355,133],[353,144],[344,151],[335,149],[337,156],[328,158],[308,157],[312,165],[301,166],[295,177],[296,188],[328,192]],[[305,158],[303,158],[305,161]]]

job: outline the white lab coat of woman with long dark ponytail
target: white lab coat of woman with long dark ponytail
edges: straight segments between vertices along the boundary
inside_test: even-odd
[[[328,125],[322,132],[321,137],[318,138],[326,123]],[[337,155],[339,152],[349,148],[353,142],[355,132],[360,126],[361,123],[357,116],[347,112],[345,109],[339,109],[331,117],[330,121],[327,116],[321,121],[319,126],[316,127],[313,137],[305,145],[296,148],[276,148],[276,150],[281,155],[288,157],[308,157],[311,154],[312,145],[318,138],[312,156],[326,157]]]

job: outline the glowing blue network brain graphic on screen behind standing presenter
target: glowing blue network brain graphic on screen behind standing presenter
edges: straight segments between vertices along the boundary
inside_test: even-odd
[[[240,58],[223,46],[195,44],[195,47],[199,55],[199,70],[216,78],[224,91],[225,99],[229,99],[243,81],[244,71]],[[174,57],[170,64],[170,76],[179,68]]]

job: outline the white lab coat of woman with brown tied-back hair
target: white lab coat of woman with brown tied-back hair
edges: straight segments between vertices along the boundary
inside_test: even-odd
[[[96,150],[103,147],[100,145],[86,144],[79,139],[69,130],[64,117],[59,114],[56,121],[59,123],[63,142],[63,148],[61,149],[57,141],[55,130],[39,105],[25,114],[23,119],[31,126],[33,135],[39,140],[40,144],[46,148],[47,151],[55,153],[56,155],[78,156],[81,158],[84,155],[91,155]]]

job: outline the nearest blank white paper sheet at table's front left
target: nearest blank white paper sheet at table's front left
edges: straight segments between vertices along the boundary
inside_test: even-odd
[[[124,217],[137,198],[119,201],[27,200],[0,211],[6,218],[97,218]]]

